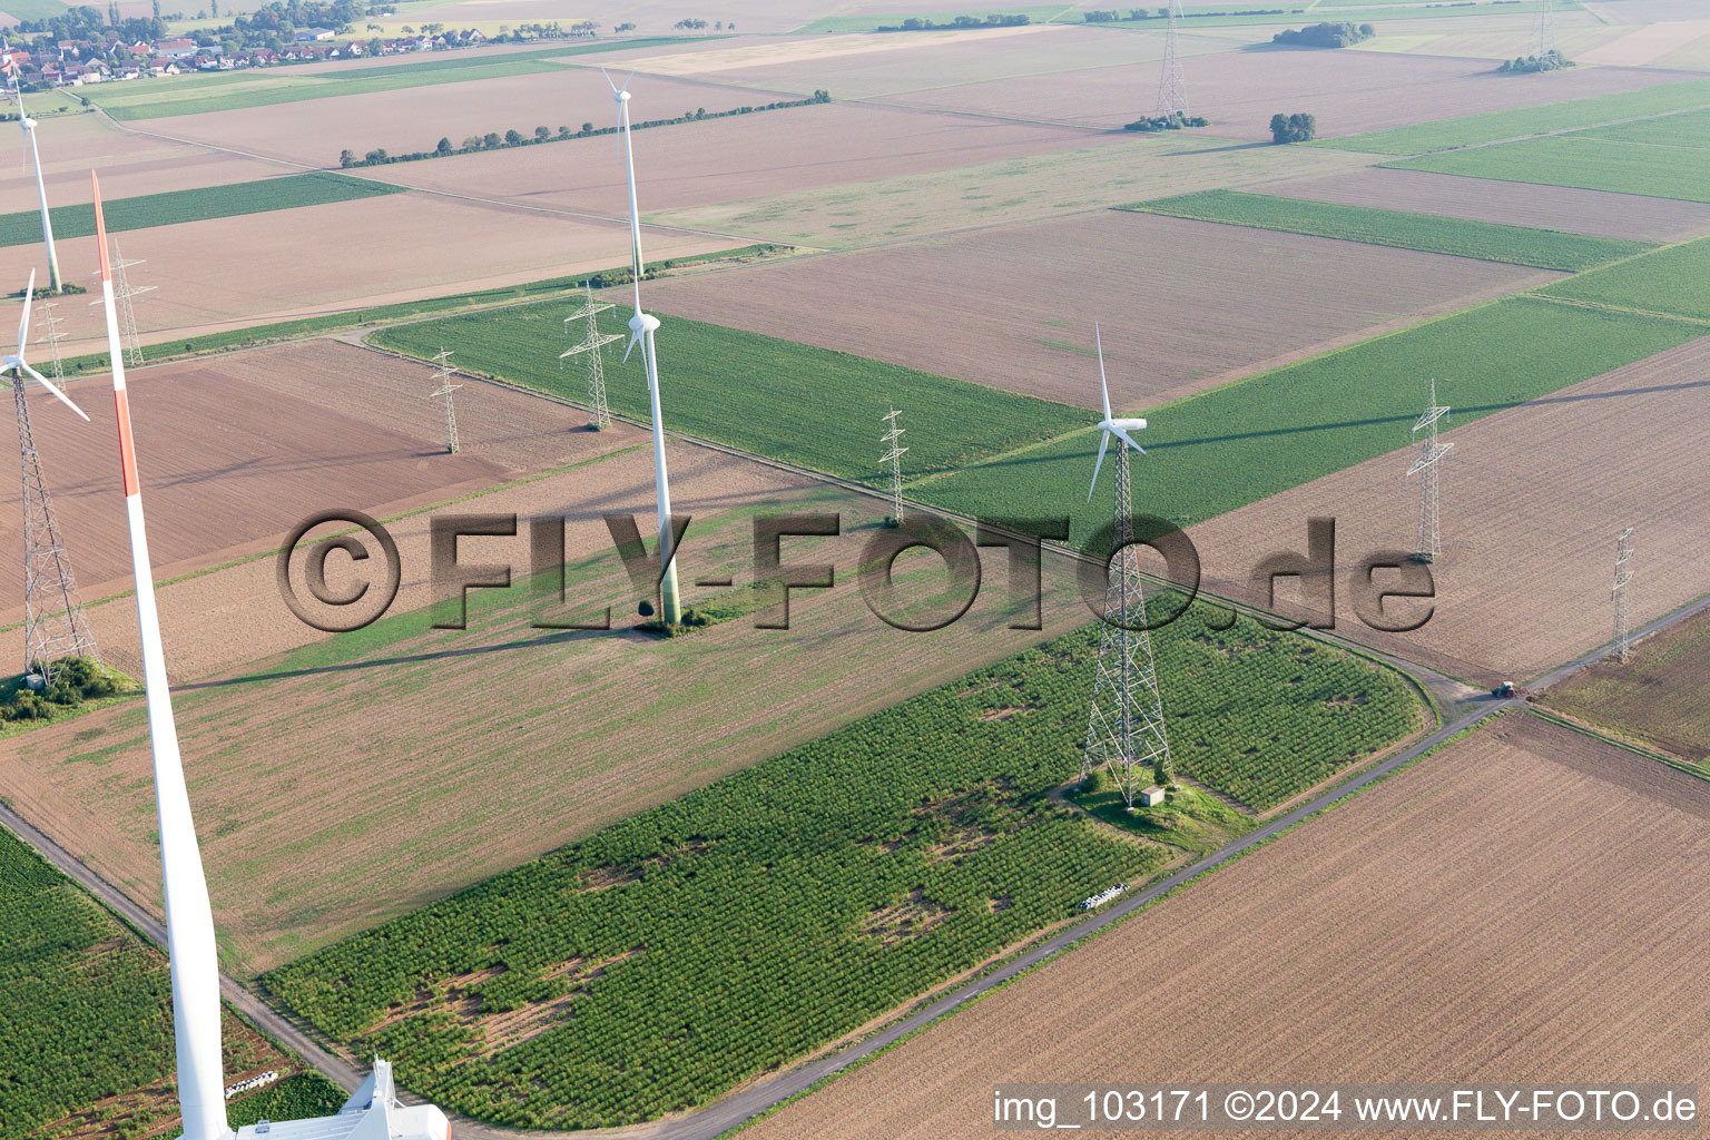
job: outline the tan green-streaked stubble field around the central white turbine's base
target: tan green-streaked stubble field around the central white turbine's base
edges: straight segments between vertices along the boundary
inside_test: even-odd
[[[414,909],[1086,620],[1081,605],[1067,603],[1047,610],[1045,631],[1009,631],[994,583],[949,629],[891,629],[846,578],[882,502],[687,444],[674,444],[672,463],[677,509],[696,516],[682,545],[691,603],[720,593],[691,585],[703,574],[752,578],[751,516],[770,509],[841,511],[841,538],[787,540],[783,550],[787,562],[833,562],[840,586],[799,591],[788,631],[734,619],[663,643],[626,632],[634,608],[624,608],[628,579],[600,514],[631,511],[646,530],[653,480],[641,448],[460,508],[568,516],[571,559],[597,559],[575,571],[571,602],[612,600],[617,631],[532,629],[540,610],[518,590],[506,598],[520,600],[494,603],[515,608],[491,620],[472,603],[467,632],[433,631],[426,612],[400,612],[386,619],[395,624],[357,636],[352,644],[366,649],[321,643],[178,687],[203,856],[234,967],[260,971]],[[417,603],[426,528],[417,516],[395,530]],[[518,535],[465,540],[460,555],[525,566],[527,552]],[[1072,590],[1055,578],[1047,588]],[[173,590],[162,593],[162,605],[178,602]],[[253,608],[243,629],[258,643],[294,620],[270,583],[245,602]],[[174,622],[168,653],[178,656],[197,634]],[[231,629],[205,624],[200,636],[231,639]],[[139,716],[128,702],[0,742],[0,795],[157,906]],[[352,873],[357,867],[363,873]]]

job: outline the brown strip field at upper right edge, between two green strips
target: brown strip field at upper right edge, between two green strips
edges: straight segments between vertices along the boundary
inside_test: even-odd
[[[1571,186],[1530,186],[1488,178],[1365,167],[1325,178],[1296,178],[1259,193],[1341,202],[1382,210],[1443,214],[1503,226],[1560,229],[1631,241],[1684,241],[1710,231],[1710,205]]]

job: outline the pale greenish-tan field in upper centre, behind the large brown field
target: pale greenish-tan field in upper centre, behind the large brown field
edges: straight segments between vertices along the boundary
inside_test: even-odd
[[[1082,142],[1093,145],[667,210],[653,219],[821,248],[886,244],[1371,162],[1368,154],[1329,147],[1229,144],[1202,137],[1112,133]]]

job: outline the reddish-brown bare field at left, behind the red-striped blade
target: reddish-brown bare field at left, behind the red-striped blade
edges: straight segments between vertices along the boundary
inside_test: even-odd
[[[320,509],[352,506],[385,518],[645,439],[621,426],[609,432],[566,431],[583,419],[573,408],[469,381],[457,393],[462,450],[445,455],[439,405],[426,398],[434,383],[431,367],[332,340],[133,371],[132,408],[156,579],[277,547],[286,532]],[[92,424],[74,419],[46,393],[31,395],[31,426],[87,602],[130,590],[130,545],[113,465],[113,403],[101,398],[103,386],[72,385]],[[19,479],[10,456],[0,458],[0,479],[7,489],[0,499],[0,547],[17,549]],[[272,561],[262,569],[270,581]],[[224,595],[243,578],[224,574],[219,586],[197,579],[185,590],[173,588],[174,596],[197,596],[185,629],[173,622],[178,607],[162,602],[169,636],[176,634],[174,677],[203,675],[236,663],[234,653],[250,660],[274,648],[265,639],[233,646],[215,629],[195,631],[197,619],[255,603],[250,590]],[[0,619],[21,620],[21,566],[9,564],[0,583]],[[108,658],[137,673],[132,603],[96,607],[91,624]]]

